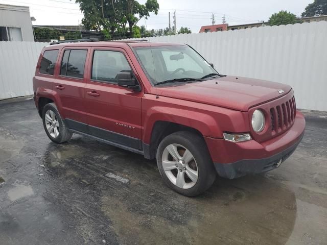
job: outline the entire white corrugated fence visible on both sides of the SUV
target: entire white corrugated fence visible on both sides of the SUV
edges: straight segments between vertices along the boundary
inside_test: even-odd
[[[221,74],[291,85],[297,107],[327,111],[327,22],[153,37],[188,43]],[[0,99],[33,93],[32,77],[47,43],[0,42]]]

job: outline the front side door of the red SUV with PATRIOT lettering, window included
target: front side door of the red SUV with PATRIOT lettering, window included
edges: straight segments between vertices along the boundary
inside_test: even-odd
[[[133,91],[116,82],[120,71],[136,73],[127,53],[122,48],[93,47],[90,57],[89,80],[85,87],[90,133],[141,150],[143,91]]]

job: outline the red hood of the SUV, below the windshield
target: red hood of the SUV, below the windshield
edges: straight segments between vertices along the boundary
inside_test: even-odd
[[[281,97],[291,89],[292,87],[286,84],[227,76],[203,82],[153,87],[151,93],[248,111],[250,107]],[[281,94],[278,90],[284,90],[285,93]]]

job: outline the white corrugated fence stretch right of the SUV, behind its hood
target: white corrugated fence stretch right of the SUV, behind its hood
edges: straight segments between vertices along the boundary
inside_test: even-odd
[[[298,108],[327,111],[327,22],[151,37],[187,43],[221,74],[289,84]]]

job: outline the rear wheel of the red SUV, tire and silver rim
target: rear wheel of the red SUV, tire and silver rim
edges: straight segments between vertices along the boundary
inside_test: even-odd
[[[53,142],[63,143],[72,138],[73,133],[68,130],[55,103],[46,104],[44,106],[42,110],[42,121],[46,135],[48,135]]]

